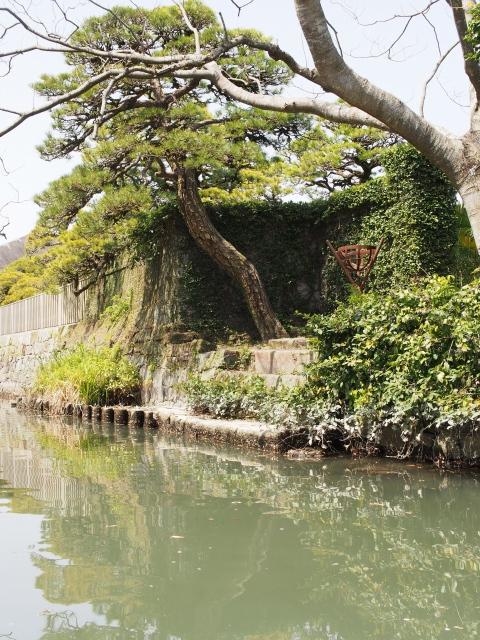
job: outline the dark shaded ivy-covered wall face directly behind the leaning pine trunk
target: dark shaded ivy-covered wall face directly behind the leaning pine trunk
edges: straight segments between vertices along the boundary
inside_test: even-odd
[[[299,324],[297,315],[326,311],[342,288],[325,278],[326,240],[334,241],[351,224],[350,212],[325,216],[325,203],[248,204],[222,207],[210,214],[220,232],[257,267],[272,305],[283,322]],[[181,280],[185,323],[208,333],[246,331],[255,335],[240,290],[191,240],[185,237],[190,261]]]

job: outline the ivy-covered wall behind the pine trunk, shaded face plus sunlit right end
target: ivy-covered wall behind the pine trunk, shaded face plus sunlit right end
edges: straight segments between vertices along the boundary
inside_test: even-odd
[[[385,157],[386,176],[310,203],[249,203],[212,209],[221,233],[259,270],[275,311],[290,325],[332,310],[348,285],[334,245],[385,239],[370,286],[388,290],[433,273],[453,273],[459,221],[455,191],[408,145]],[[190,260],[181,281],[186,324],[200,331],[254,335],[241,294],[185,237]],[[188,248],[187,248],[188,247]]]

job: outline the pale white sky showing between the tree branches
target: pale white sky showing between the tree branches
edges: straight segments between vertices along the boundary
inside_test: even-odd
[[[65,6],[75,7],[77,17],[86,17],[99,11],[88,0],[59,0]],[[309,55],[294,11],[293,0],[255,0],[237,15],[230,0],[205,0],[216,11],[222,11],[229,27],[254,27],[271,36],[301,62],[309,62]],[[246,0],[240,0],[245,2]],[[0,0],[0,6],[8,6],[12,0]],[[137,4],[152,8],[158,4],[168,4],[168,0],[136,0]],[[128,4],[129,0],[123,0]],[[121,1],[103,0],[104,6],[113,7]],[[342,48],[347,61],[352,66],[383,88],[403,98],[410,106],[417,108],[422,86],[435,66],[438,48],[435,34],[429,23],[422,17],[412,21],[409,30],[394,50],[395,61],[380,55],[402,31],[405,20],[385,22],[364,27],[375,20],[385,20],[395,14],[408,14],[426,6],[427,0],[323,0],[329,20],[338,29]],[[55,25],[51,0],[31,0],[31,10],[42,20],[52,24],[52,32],[59,31]],[[441,0],[429,13],[436,25],[442,51],[455,42],[455,31],[451,12],[445,0]],[[0,18],[0,26],[2,25]],[[29,42],[28,38],[15,32],[5,46],[20,46]],[[33,53],[17,59],[10,75],[0,78],[0,106],[22,111],[39,98],[30,85],[42,73],[61,71],[61,57],[48,53]],[[2,68],[0,68],[2,73]],[[310,88],[305,83],[294,83],[289,92],[305,95]],[[314,87],[312,87],[314,89]],[[463,74],[459,48],[442,65],[438,80],[430,85],[426,103],[426,115],[435,124],[454,133],[462,133],[468,118],[468,85]],[[0,125],[9,122],[11,116],[0,114]],[[0,207],[6,204],[2,214],[8,215],[8,240],[28,233],[35,224],[37,208],[33,203],[35,194],[41,192],[54,178],[69,171],[72,161],[45,162],[35,149],[48,130],[48,115],[30,120],[0,139],[0,157],[4,160],[8,175],[0,168]]]

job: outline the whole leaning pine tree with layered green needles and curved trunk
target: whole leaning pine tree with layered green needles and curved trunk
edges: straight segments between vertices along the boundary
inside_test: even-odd
[[[318,69],[300,67],[256,31],[226,31],[199,0],[115,7],[68,41],[37,37],[68,65],[35,85],[47,100],[35,113],[52,113],[40,152],[49,160],[80,152],[81,163],[38,196],[28,243],[37,264],[26,258],[0,276],[4,302],[65,282],[89,286],[119,256],[139,257],[137,238],[178,205],[197,244],[242,288],[260,334],[283,335],[255,265],[218,233],[205,203],[325,197],[368,182],[408,126],[391,134],[348,104],[286,99],[295,74],[319,81]],[[449,219],[435,220],[448,235]]]

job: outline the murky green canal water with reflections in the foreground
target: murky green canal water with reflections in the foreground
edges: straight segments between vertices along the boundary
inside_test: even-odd
[[[0,411],[0,638],[480,635],[480,484]]]

